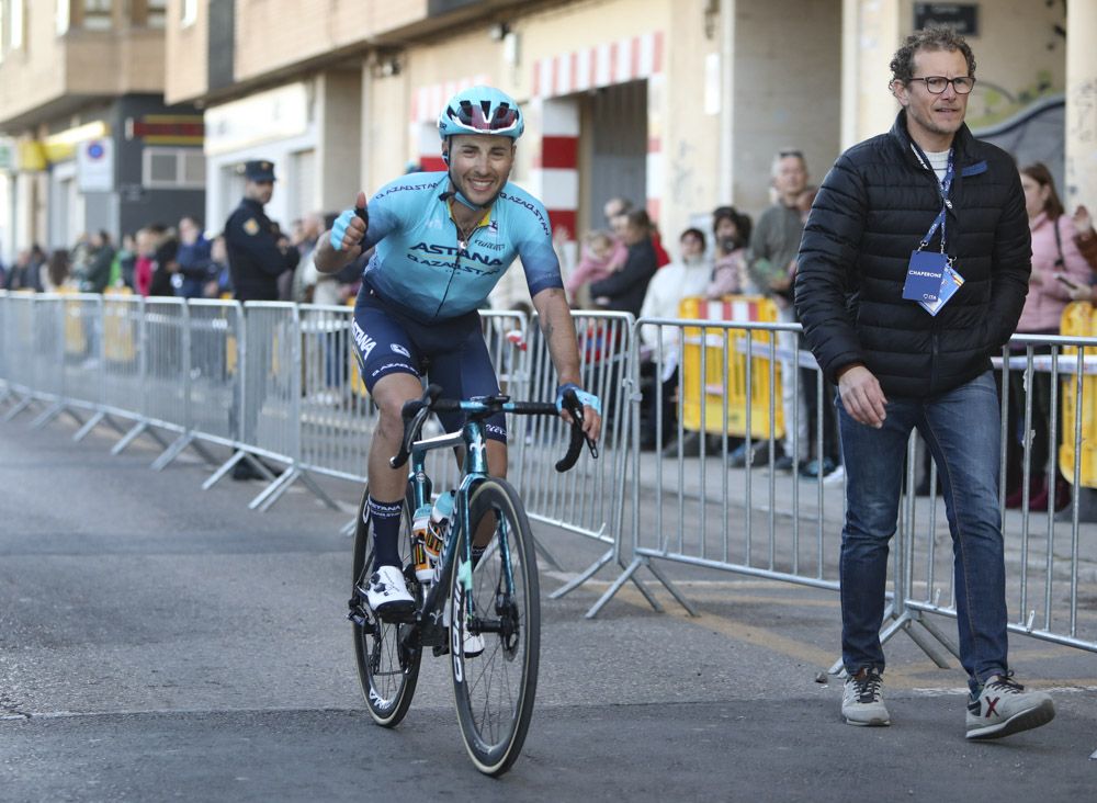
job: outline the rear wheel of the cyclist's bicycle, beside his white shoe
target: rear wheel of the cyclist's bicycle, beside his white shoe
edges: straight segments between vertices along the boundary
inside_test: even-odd
[[[373,533],[369,502],[370,488],[366,486],[354,529],[354,587],[351,592],[354,658],[370,714],[378,725],[394,727],[407,714],[415,695],[422,651],[400,646],[400,623],[382,621],[365,602],[364,589],[373,573]],[[400,559],[405,566],[408,565],[410,533],[411,513],[405,499],[399,538]],[[417,585],[408,583],[408,589],[419,597]]]

